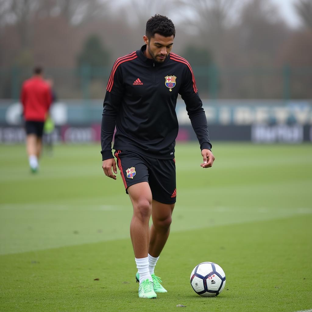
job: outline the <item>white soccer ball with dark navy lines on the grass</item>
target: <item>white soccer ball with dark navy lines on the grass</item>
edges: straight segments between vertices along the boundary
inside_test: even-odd
[[[198,295],[217,296],[225,286],[225,273],[216,263],[202,262],[191,273],[191,285]]]

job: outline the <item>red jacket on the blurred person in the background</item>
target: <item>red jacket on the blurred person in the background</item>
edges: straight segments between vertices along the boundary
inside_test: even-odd
[[[45,121],[52,102],[50,86],[41,77],[32,77],[22,86],[21,102],[25,120]]]

